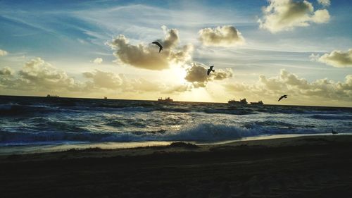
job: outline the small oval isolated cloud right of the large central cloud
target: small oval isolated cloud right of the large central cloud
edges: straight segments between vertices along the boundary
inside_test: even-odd
[[[241,32],[231,25],[199,30],[199,39],[206,46],[232,47],[244,44]]]

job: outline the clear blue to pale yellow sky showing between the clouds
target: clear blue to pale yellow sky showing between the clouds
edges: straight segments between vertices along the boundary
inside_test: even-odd
[[[40,57],[75,80],[83,82],[82,73],[94,70],[124,74],[132,80],[143,78],[165,82],[168,79],[161,78],[163,74],[160,71],[116,63],[115,60],[119,57],[113,56],[114,50],[107,44],[118,35],[125,35],[130,44],[149,44],[156,39],[163,39],[165,32],[161,26],[165,25],[168,29],[177,29],[180,46],[193,45],[189,62],[215,65],[223,70],[232,69],[231,78],[218,82],[224,86],[229,83],[254,85],[258,83],[259,75],[275,78],[280,70],[287,70],[308,82],[325,78],[344,82],[346,76],[352,73],[351,66],[335,67],[322,61],[312,61],[309,56],[322,56],[334,50],[346,52],[352,48],[351,1],[332,1],[329,6],[323,6],[315,0],[307,2],[314,7],[314,11],[328,11],[329,20],[324,23],[310,21],[305,27],[292,26],[287,27],[287,30],[270,32],[269,29],[260,28],[258,23],[258,19],[264,20],[263,7],[270,5],[270,1],[265,0],[0,1],[0,49],[7,51],[6,56],[0,56],[0,68],[9,67],[16,73],[32,58]],[[209,47],[202,44],[199,39],[201,29],[224,25],[233,26],[241,32],[245,44],[233,47]],[[103,62],[94,64],[95,58],[102,58]],[[215,86],[212,83],[215,81],[209,80],[208,87],[199,88],[203,91],[191,88],[187,93],[190,95],[194,92],[194,95],[196,92],[208,92],[211,96],[210,87]],[[37,90],[25,93],[10,89],[0,89],[0,94],[45,92]],[[153,99],[158,96],[158,92],[141,91],[139,95],[121,95],[116,90],[107,92],[116,98]],[[63,93],[77,95],[67,90]],[[175,93],[175,98],[177,94],[180,99],[187,99],[187,94]],[[225,101],[230,95],[233,94],[222,94],[225,99],[206,99]],[[87,94],[87,97],[97,96]],[[192,96],[194,100],[199,98]],[[253,94],[252,98],[258,97]],[[336,102],[337,99],[334,99],[332,104]]]

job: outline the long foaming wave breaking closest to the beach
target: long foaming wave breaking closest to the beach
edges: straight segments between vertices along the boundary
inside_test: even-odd
[[[277,134],[312,134],[321,131],[305,128],[268,128],[252,124],[246,126],[199,123],[181,130],[135,132],[1,132],[0,144],[35,144],[36,142],[143,142],[195,141],[219,142],[241,137]]]

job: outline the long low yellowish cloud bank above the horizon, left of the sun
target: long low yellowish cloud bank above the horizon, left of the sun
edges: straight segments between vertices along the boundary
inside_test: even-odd
[[[0,87],[26,93],[180,93],[191,89],[190,85],[165,83],[146,80],[144,78],[126,78],[123,74],[115,74],[102,70],[82,73],[82,81],[75,80],[65,71],[59,70],[42,58],[33,58],[17,72],[11,68],[0,69]]]

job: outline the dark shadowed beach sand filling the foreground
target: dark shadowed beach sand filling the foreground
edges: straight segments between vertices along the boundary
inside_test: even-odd
[[[352,197],[352,136],[0,156],[0,197]]]

